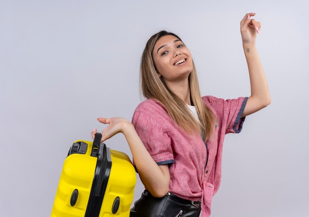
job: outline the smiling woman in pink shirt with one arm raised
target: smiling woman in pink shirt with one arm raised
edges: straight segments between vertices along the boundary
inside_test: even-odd
[[[221,181],[224,136],[239,133],[245,116],[270,104],[266,77],[255,47],[260,22],[248,13],[240,22],[251,96],[223,100],[200,96],[189,49],[175,34],[152,36],[141,60],[141,88],[147,98],[109,124],[102,142],[121,132],[146,190],[130,217],[208,217]],[[97,132],[95,129],[92,136]]]

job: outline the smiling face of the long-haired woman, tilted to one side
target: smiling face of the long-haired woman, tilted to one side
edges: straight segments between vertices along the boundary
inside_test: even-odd
[[[160,37],[153,51],[158,76],[165,82],[188,79],[193,70],[191,52],[184,43],[172,35]]]

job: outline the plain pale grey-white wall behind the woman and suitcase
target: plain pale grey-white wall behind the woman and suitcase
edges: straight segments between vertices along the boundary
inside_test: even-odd
[[[307,11],[305,0],[0,0],[0,216],[50,215],[70,145],[104,129],[97,117],[131,119],[160,30],[190,48],[202,95],[249,96],[239,22],[256,12],[272,103],[227,135],[212,216],[308,217]],[[123,135],[106,144],[130,155]]]

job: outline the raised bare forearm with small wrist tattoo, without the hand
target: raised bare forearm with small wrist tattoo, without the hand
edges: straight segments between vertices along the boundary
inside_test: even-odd
[[[251,95],[243,116],[254,113],[270,104],[270,93],[266,76],[255,44],[244,43],[243,49],[247,60]]]

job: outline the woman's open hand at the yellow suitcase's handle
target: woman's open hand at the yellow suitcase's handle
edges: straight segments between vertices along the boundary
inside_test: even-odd
[[[132,125],[130,121],[128,121],[123,117],[113,117],[113,118],[99,117],[98,121],[103,124],[108,124],[108,126],[102,131],[101,143],[115,136],[117,133],[123,133],[128,125]],[[95,128],[91,132],[92,139],[94,139],[96,133],[97,129]]]

